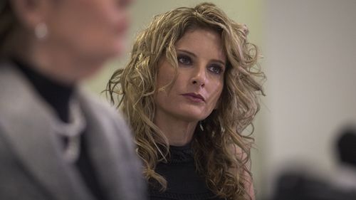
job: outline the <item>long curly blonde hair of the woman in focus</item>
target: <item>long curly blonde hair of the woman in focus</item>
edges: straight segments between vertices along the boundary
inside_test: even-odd
[[[201,121],[194,132],[195,164],[214,194],[226,199],[244,199],[248,194],[246,181],[251,180],[247,165],[253,138],[241,132],[252,125],[259,110],[258,94],[263,94],[260,80],[265,78],[257,64],[258,48],[248,43],[244,24],[232,21],[210,3],[159,14],[137,36],[130,62],[113,73],[106,91],[132,127],[137,154],[144,162],[145,178],[166,189],[164,177],[155,172],[157,163],[167,161],[169,156],[167,137],[153,123],[154,95],[159,90],[155,84],[157,65],[165,56],[177,72],[175,44],[184,33],[197,28],[219,33],[227,63],[219,108]],[[169,85],[172,83],[174,80]],[[236,147],[243,157],[231,151]]]

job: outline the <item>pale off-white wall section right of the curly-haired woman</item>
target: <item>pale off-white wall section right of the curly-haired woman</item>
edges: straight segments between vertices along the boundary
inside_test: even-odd
[[[333,141],[356,124],[356,1],[268,0],[265,191],[293,161],[333,173]]]

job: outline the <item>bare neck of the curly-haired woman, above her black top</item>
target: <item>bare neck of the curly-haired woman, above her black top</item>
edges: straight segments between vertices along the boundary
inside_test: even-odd
[[[167,137],[169,145],[173,146],[183,146],[192,141],[194,130],[198,123],[187,122],[163,115],[163,113],[156,113],[154,122],[164,136]]]

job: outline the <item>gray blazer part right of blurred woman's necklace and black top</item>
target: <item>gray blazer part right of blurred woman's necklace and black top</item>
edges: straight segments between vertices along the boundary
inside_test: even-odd
[[[141,172],[141,164],[127,125],[123,119],[115,118],[117,113],[108,115],[113,114],[112,110],[102,105],[96,107],[98,102],[87,102],[88,99],[81,101],[88,125],[88,151],[105,193],[111,200],[145,199],[142,193],[145,186],[137,174]]]

